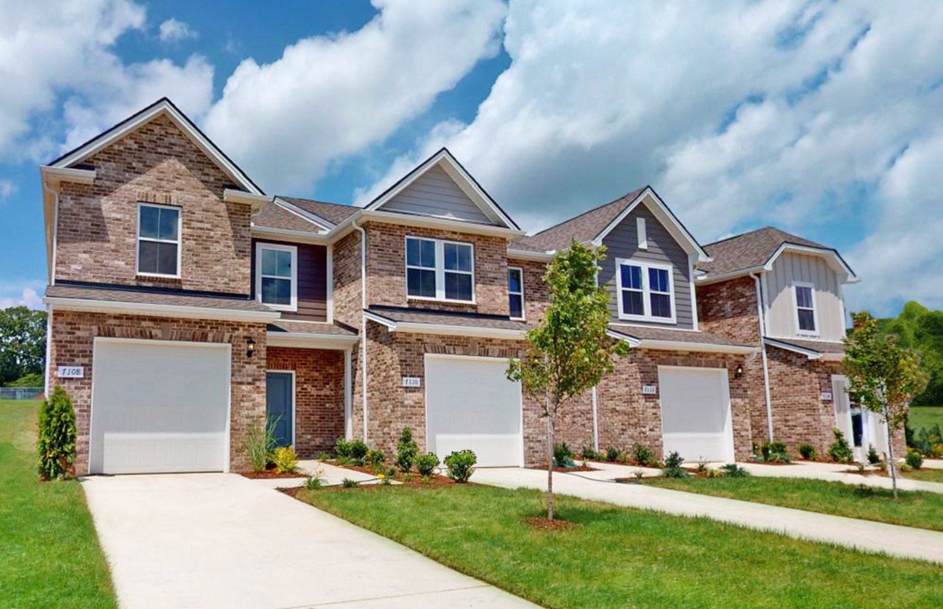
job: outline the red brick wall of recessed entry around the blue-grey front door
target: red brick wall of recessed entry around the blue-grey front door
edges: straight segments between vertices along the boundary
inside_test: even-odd
[[[268,370],[295,372],[295,452],[312,459],[344,435],[344,354],[269,347]]]

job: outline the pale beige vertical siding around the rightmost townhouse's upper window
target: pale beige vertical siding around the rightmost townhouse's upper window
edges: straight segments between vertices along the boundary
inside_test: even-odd
[[[788,252],[776,258],[772,270],[767,272],[769,336],[810,338],[796,332],[796,304],[792,284],[797,281],[815,286],[816,314],[819,317],[818,338],[841,340],[845,336],[845,320],[841,284],[837,273],[819,256]]]

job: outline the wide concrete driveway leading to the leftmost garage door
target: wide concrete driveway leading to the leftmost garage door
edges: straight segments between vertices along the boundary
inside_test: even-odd
[[[82,487],[125,609],[534,606],[236,474]]]

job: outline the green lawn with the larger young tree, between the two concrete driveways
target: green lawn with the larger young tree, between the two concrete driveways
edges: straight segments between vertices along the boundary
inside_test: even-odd
[[[379,486],[299,498],[550,607],[917,607],[943,604],[943,568],[558,497],[570,531],[532,530],[537,491]],[[888,574],[893,575],[888,575]]]

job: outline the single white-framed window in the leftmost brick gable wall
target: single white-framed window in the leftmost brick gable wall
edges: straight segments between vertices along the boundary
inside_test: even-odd
[[[138,274],[180,276],[180,207],[138,204]]]

